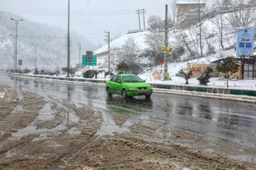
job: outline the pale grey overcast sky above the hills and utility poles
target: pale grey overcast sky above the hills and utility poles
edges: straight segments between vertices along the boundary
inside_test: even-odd
[[[70,31],[83,35],[94,45],[104,44],[104,31],[110,31],[111,37],[115,38],[126,34],[128,30],[138,29],[137,9],[146,10],[145,21],[151,15],[159,15],[164,19],[165,5],[168,5],[171,15],[171,0],[69,1]],[[68,0],[1,0],[0,10],[66,30],[68,27]],[[142,15],[141,25],[143,28]]]

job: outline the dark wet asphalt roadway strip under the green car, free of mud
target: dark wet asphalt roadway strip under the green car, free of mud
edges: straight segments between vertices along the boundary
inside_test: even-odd
[[[46,98],[68,99],[108,112],[128,115],[144,124],[163,125],[256,150],[256,105],[184,95],[153,94],[124,100],[108,97],[102,87],[59,84],[9,77],[0,72],[0,85],[31,91]],[[256,156],[255,156],[256,157]],[[256,158],[251,162],[256,163]]]

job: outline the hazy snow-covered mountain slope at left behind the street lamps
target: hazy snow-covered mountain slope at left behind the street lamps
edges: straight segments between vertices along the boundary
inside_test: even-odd
[[[13,68],[14,65],[14,35],[16,25],[10,18],[20,19],[22,16],[0,11],[0,67]],[[17,68],[34,69],[35,47],[37,44],[38,69],[53,70],[57,67],[67,67],[67,31],[57,27],[38,24],[23,18],[18,24],[17,60],[21,59],[23,65]],[[71,65],[79,62],[79,43],[81,53],[93,49],[93,45],[85,38],[70,34],[71,39]]]

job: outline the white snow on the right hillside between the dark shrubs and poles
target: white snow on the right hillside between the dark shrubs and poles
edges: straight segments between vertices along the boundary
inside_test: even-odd
[[[203,21],[202,25],[202,44],[203,44],[203,55],[200,57],[200,48],[198,44],[198,24],[192,25],[186,29],[178,29],[176,27],[169,30],[169,46],[174,47],[174,49],[183,46],[184,53],[179,55],[179,62],[169,62],[168,63],[168,72],[170,75],[176,75],[176,73],[183,68],[187,68],[187,63],[190,64],[210,64],[211,62],[226,57],[228,55],[235,55],[235,45],[236,45],[236,28],[231,27],[228,22],[229,14],[222,15],[223,18],[223,47],[220,45],[220,33],[218,25],[216,22],[219,21],[219,15],[216,17],[207,19]],[[118,39],[115,39],[111,42],[111,65],[115,68],[118,60],[116,59],[116,54],[113,54],[113,51],[116,49],[123,48],[125,42],[128,39],[133,39],[134,43],[138,45],[140,52],[137,53],[137,57],[143,54],[143,52],[150,48],[147,43],[147,36],[152,34],[151,31],[145,31],[141,33],[127,34],[123,35]],[[164,34],[164,33],[163,33]],[[186,45],[187,44],[187,45]],[[190,48],[190,52],[188,47]],[[95,54],[102,54],[108,51],[108,45],[103,45],[100,49],[95,51]],[[196,55],[191,55],[191,51]],[[175,52],[174,52],[175,53]],[[113,57],[114,55],[114,57]],[[169,57],[172,57],[170,55]],[[98,57],[98,67],[99,69],[107,70],[107,55]],[[146,56],[138,59],[139,63],[143,65],[146,62]],[[155,65],[155,67],[160,67],[160,65]],[[144,67],[144,73],[150,72],[150,68]],[[116,73],[116,72],[115,72]],[[148,75],[150,75],[148,73]]]

